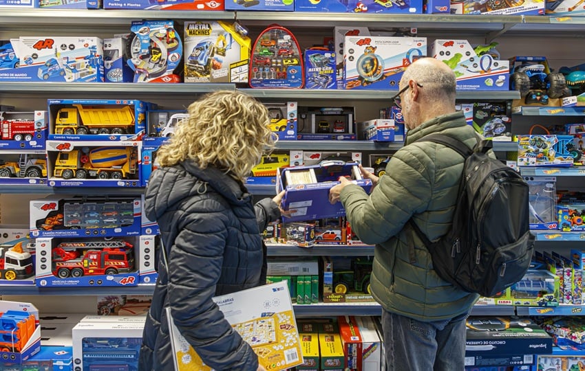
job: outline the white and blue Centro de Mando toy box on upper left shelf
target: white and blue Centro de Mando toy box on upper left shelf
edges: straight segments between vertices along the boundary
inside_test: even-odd
[[[103,82],[103,41],[97,37],[21,36],[10,41],[20,60],[0,81]]]

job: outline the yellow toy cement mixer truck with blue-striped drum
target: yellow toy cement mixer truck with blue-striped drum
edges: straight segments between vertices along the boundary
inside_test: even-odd
[[[63,179],[123,179],[138,174],[138,150],[135,147],[98,147],[60,152],[54,177]]]

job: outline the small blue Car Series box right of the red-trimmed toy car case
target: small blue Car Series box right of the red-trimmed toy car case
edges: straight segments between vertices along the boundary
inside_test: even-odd
[[[305,50],[305,88],[337,89],[335,53],[326,48]]]

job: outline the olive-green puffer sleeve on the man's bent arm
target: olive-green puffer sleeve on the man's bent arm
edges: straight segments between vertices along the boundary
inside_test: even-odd
[[[416,145],[402,148],[370,196],[357,185],[341,190],[352,231],[368,244],[383,243],[403,229],[413,215],[427,210],[432,197],[434,161]],[[416,147],[416,148],[412,148]]]

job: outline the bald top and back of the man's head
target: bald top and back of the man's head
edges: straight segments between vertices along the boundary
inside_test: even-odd
[[[421,91],[425,100],[455,104],[455,74],[443,61],[435,58],[416,60],[404,71],[401,86],[406,85],[409,80],[414,80],[425,87]]]

